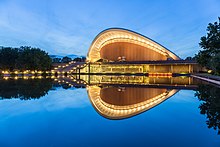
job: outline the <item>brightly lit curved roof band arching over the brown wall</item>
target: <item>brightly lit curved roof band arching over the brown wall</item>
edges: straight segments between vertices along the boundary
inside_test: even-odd
[[[87,60],[90,62],[95,62],[101,59],[100,50],[102,47],[114,42],[134,43],[140,46],[144,46],[146,49],[154,50],[174,60],[180,60],[177,55],[159,43],[153,41],[152,39],[139,33],[121,28],[110,28],[99,33],[89,48]]]

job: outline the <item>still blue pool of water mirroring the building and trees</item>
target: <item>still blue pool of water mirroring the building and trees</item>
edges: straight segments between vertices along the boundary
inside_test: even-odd
[[[220,146],[220,88],[191,77],[0,79],[0,146]]]

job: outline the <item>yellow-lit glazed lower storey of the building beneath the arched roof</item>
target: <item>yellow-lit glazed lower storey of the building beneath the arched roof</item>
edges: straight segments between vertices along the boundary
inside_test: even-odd
[[[145,73],[193,73],[196,68],[193,64],[107,64],[90,63],[80,69],[80,73],[111,73],[111,74],[145,74]]]

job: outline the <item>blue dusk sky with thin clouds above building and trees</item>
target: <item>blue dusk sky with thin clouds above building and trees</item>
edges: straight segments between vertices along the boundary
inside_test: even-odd
[[[218,16],[219,0],[0,0],[0,46],[86,55],[99,32],[120,27],[185,58]]]

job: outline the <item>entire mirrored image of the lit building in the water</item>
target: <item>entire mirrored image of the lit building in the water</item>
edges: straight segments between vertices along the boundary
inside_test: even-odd
[[[180,89],[196,89],[190,77],[83,76],[90,101],[108,119],[124,119],[159,105]]]

